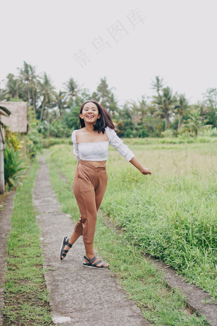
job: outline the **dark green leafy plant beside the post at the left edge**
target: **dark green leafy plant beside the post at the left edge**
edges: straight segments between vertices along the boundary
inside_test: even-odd
[[[19,180],[24,178],[21,171],[27,167],[20,167],[23,159],[19,159],[19,152],[15,151],[13,147],[6,145],[4,150],[4,174],[5,174],[5,188],[9,190],[15,185],[20,184]]]

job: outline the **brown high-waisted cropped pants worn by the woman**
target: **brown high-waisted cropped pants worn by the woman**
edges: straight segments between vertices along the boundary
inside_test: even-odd
[[[75,170],[73,191],[81,213],[75,232],[83,235],[83,241],[92,243],[100,208],[107,185],[106,164],[95,166],[79,161]]]

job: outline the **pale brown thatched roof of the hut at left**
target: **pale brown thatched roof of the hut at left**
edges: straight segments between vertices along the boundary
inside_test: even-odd
[[[12,132],[27,132],[27,103],[26,102],[1,102],[1,106],[11,112],[10,116],[1,115],[1,121]]]

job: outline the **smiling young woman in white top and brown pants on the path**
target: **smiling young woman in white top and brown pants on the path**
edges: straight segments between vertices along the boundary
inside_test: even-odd
[[[78,161],[73,191],[81,213],[70,238],[64,236],[60,259],[62,260],[75,241],[83,235],[86,250],[84,267],[106,268],[109,264],[98,259],[93,251],[93,238],[100,208],[107,185],[106,160],[109,143],[119,154],[134,165],[142,174],[151,175],[117,136],[110,114],[98,102],[86,101],[79,113],[80,129],[72,133],[74,154]]]

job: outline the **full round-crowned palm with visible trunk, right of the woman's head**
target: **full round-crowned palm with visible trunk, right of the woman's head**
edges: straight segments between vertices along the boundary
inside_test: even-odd
[[[170,116],[173,113],[174,108],[178,105],[176,94],[172,95],[172,89],[170,87],[162,88],[162,94],[158,93],[157,96],[153,96],[153,103],[157,106],[157,111],[154,115],[160,116],[161,119],[165,119],[165,130],[169,122]]]

